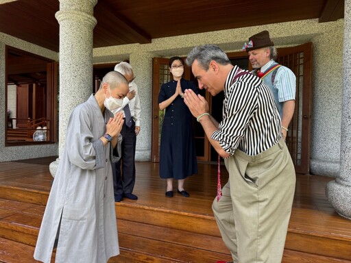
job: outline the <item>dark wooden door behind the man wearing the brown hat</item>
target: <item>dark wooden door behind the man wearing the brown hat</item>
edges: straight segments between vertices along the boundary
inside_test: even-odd
[[[295,113],[289,125],[287,145],[297,173],[309,173],[312,43],[278,49],[279,64],[287,66],[296,76]]]

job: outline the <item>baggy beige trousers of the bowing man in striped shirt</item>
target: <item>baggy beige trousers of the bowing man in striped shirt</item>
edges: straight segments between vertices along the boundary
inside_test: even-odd
[[[233,260],[281,262],[296,181],[285,141],[255,156],[237,150],[224,162],[228,183],[212,208]]]

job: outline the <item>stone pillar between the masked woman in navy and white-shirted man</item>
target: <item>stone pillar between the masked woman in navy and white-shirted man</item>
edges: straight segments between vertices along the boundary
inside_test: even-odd
[[[141,101],[141,130],[136,137],[136,161],[151,160],[152,146],[152,58],[155,55],[147,52],[130,54],[130,65],[133,67],[135,82]]]

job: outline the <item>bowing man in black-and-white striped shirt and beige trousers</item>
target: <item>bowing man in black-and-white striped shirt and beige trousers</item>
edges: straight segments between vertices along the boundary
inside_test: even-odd
[[[259,77],[233,66],[215,45],[195,47],[186,63],[200,89],[213,96],[224,90],[220,123],[208,113],[204,97],[184,92],[184,102],[229,172],[221,198],[213,201],[223,241],[235,262],[281,262],[295,170],[274,97]]]

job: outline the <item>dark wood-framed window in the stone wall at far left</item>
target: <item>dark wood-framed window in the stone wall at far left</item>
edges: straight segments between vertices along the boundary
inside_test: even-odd
[[[5,146],[57,141],[57,63],[6,47]]]

